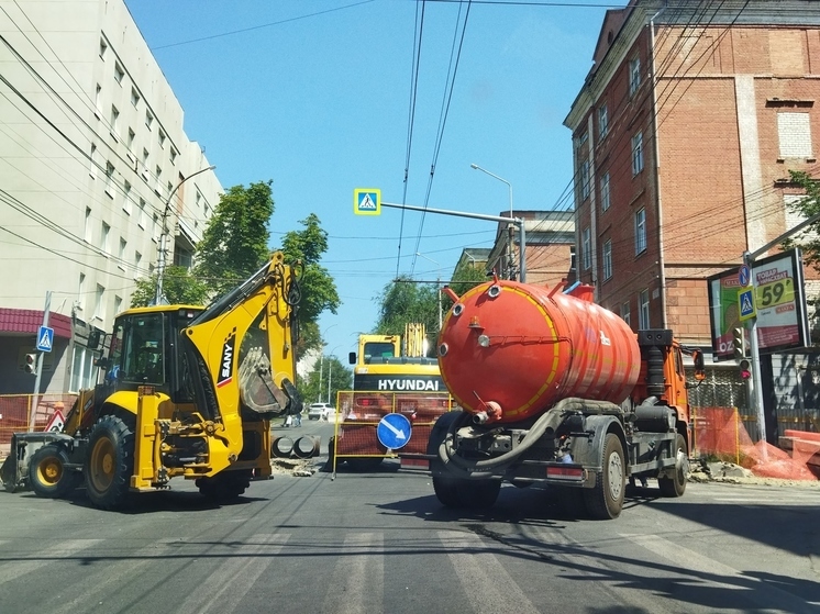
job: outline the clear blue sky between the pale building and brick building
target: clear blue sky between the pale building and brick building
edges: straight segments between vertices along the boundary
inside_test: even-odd
[[[496,234],[392,208],[355,215],[354,189],[487,215],[511,196],[516,210],[572,206],[563,121],[592,64],[600,0],[125,3],[223,188],[273,180],[272,249],[311,212],[328,232],[321,264],[342,304],[319,321],[325,356],[346,364],[397,273],[443,283]]]

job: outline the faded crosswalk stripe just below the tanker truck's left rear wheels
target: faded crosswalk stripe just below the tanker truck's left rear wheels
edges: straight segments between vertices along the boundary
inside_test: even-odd
[[[478,535],[440,531],[439,539],[447,550],[447,557],[474,612],[539,614],[539,609],[527,599],[498,558],[484,551],[486,546]]]

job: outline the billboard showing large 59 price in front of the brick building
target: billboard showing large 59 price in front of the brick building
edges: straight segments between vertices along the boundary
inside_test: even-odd
[[[751,286],[741,286],[740,267],[707,279],[712,350],[718,360],[733,358],[732,331],[743,326],[739,294],[751,287],[757,319],[757,348],[772,354],[809,345],[802,257],[791,249],[752,264]]]

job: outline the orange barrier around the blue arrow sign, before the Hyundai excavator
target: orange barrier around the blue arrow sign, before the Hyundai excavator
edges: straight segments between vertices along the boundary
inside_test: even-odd
[[[378,426],[388,414],[407,417],[411,432],[402,453],[425,454],[433,424],[440,415],[453,409],[453,398],[446,392],[339,392],[330,456],[333,477],[336,462],[346,461],[352,468],[377,467],[385,458],[398,457],[398,448],[389,449],[378,437]]]

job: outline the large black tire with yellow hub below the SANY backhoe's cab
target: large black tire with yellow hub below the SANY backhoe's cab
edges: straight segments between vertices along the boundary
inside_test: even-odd
[[[88,499],[101,510],[121,509],[134,473],[134,432],[121,418],[102,416],[88,438],[86,456]]]

